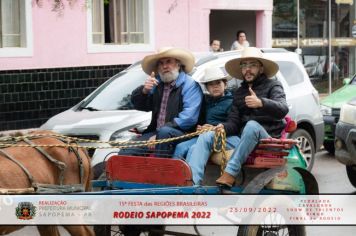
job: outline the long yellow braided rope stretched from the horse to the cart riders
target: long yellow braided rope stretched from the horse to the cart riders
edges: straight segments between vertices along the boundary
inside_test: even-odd
[[[168,142],[174,142],[180,139],[189,139],[194,136],[198,136],[204,132],[211,131],[212,128],[206,128],[202,129],[193,133],[185,134],[179,137],[172,137],[172,138],[167,138],[167,139],[156,139],[156,140],[145,140],[145,141],[98,141],[98,140],[92,140],[92,139],[82,139],[82,138],[76,138],[76,137],[69,137],[65,135],[60,135],[60,134],[32,134],[32,135],[24,135],[24,136],[18,136],[18,137],[5,137],[0,139],[0,148],[6,148],[6,147],[73,147],[73,148],[87,148],[87,149],[106,149],[106,148],[112,148],[112,146],[115,146],[117,148],[131,148],[131,147],[143,147],[143,146],[148,146],[148,145],[156,145],[156,144],[161,144],[161,143],[168,143]],[[57,138],[63,138],[67,140],[66,144],[51,144],[51,145],[46,145],[46,144],[19,144],[19,143],[14,143],[22,141],[24,138],[29,138],[29,139],[36,139],[36,138],[44,138],[44,137],[57,137]],[[9,142],[10,141],[10,142]],[[95,144],[110,144],[111,146],[84,146],[84,145],[78,145],[73,142],[81,142],[81,143],[95,143]]]

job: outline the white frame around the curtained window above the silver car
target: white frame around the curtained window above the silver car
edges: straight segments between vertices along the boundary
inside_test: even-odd
[[[87,42],[88,53],[103,53],[103,52],[150,52],[154,50],[154,17],[153,17],[153,0],[148,1],[148,37],[147,44],[94,44],[93,43],[93,23],[92,23],[92,9],[87,8]]]

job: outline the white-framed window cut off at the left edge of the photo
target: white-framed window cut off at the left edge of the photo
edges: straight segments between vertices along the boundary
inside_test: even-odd
[[[0,57],[32,55],[30,0],[0,0]]]

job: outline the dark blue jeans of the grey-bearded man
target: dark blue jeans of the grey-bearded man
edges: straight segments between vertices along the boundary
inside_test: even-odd
[[[142,136],[133,139],[132,141],[144,141],[148,140],[150,137],[153,135],[156,135],[156,139],[166,139],[166,138],[172,138],[172,137],[178,137],[181,135],[184,135],[184,133],[181,130],[168,127],[168,126],[162,126],[160,129],[158,129],[155,132],[148,132],[143,134]],[[144,154],[154,154],[157,157],[171,157],[175,146],[184,140],[178,140],[175,142],[169,142],[169,143],[160,143],[157,144],[155,147],[155,150],[150,150],[148,147],[143,146],[143,147],[133,147],[133,148],[125,148],[121,149],[119,151],[119,155],[144,155]]]

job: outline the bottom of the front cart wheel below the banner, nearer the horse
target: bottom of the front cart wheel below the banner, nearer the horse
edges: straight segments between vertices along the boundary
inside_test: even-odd
[[[111,236],[139,236],[141,233],[149,236],[163,236],[165,226],[163,225],[95,225],[95,235]]]

